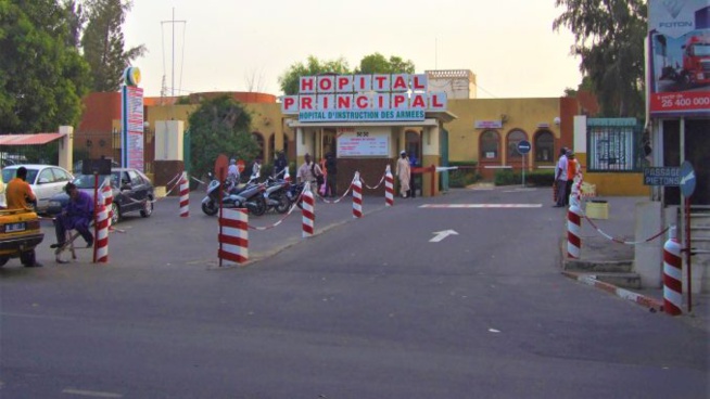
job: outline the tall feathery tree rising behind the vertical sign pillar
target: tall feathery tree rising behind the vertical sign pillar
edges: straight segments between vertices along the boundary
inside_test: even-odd
[[[91,67],[93,91],[117,91],[123,72],[130,63],[145,53],[144,46],[124,51],[122,25],[130,10],[130,1],[88,0],[89,23],[81,38],[84,57]]]

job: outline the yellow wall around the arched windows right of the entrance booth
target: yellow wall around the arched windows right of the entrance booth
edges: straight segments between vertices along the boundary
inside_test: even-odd
[[[559,99],[470,99],[448,100],[448,111],[458,119],[444,125],[448,130],[448,159],[452,162],[479,160],[479,137],[484,130],[496,130],[505,149],[507,133],[520,129],[532,142],[533,134],[540,130],[540,124],[560,139],[560,127],[555,118],[560,116]],[[507,121],[502,129],[476,129],[476,120],[499,120],[502,115]],[[502,150],[503,150],[502,149]],[[502,152],[505,157],[505,151]],[[503,160],[506,162],[505,158]]]

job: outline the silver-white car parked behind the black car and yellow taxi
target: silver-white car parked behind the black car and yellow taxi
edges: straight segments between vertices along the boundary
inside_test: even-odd
[[[5,185],[17,175],[17,168],[27,169],[27,183],[37,197],[37,211],[45,213],[49,206],[49,198],[62,192],[64,185],[74,179],[68,170],[54,165],[21,164],[11,165],[2,169],[2,181]]]

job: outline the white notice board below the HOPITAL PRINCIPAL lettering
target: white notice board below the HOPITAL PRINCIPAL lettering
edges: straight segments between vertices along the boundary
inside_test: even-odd
[[[338,157],[390,156],[390,133],[368,128],[338,129]]]

